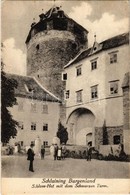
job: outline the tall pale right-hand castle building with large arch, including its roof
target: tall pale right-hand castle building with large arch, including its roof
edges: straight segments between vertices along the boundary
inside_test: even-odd
[[[130,129],[129,33],[95,40],[64,66],[63,74],[69,142],[97,149],[124,144]]]

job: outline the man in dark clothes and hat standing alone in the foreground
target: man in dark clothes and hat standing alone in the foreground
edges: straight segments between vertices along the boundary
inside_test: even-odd
[[[34,161],[34,156],[35,156],[35,154],[34,154],[33,147],[34,147],[34,145],[31,144],[31,145],[30,145],[30,148],[29,148],[28,151],[27,151],[27,155],[28,155],[27,160],[30,161],[30,164],[29,164],[29,171],[31,171],[31,172],[34,172],[34,170],[33,170],[33,161]]]

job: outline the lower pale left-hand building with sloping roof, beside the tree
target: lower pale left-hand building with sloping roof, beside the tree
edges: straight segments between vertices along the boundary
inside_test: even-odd
[[[59,122],[60,99],[46,90],[34,77],[7,74],[17,81],[17,105],[9,108],[13,119],[19,123],[17,136],[10,140],[21,146],[35,144],[37,137],[45,147],[51,145]]]

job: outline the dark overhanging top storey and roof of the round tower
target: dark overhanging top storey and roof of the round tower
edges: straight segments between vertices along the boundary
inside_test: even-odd
[[[46,14],[40,14],[39,17],[40,20],[38,23],[33,22],[31,24],[31,29],[26,39],[27,45],[40,32],[46,34],[50,30],[57,30],[69,31],[74,34],[79,48],[88,47],[88,31],[73,19],[69,18],[60,7],[53,7]]]

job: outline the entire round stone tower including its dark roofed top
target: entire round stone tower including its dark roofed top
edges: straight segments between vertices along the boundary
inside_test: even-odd
[[[63,66],[88,47],[88,31],[53,6],[32,23],[26,39],[27,75],[35,76],[50,92],[63,97]]]

